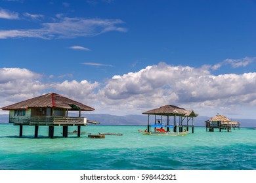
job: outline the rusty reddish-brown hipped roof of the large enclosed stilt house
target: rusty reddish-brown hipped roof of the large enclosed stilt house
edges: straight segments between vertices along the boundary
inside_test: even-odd
[[[47,93],[39,97],[28,99],[26,101],[21,101],[9,105],[7,107],[2,107],[3,110],[15,110],[15,109],[27,109],[27,108],[65,108],[68,110],[82,110],[82,111],[92,111],[95,110],[92,107],[83,105],[77,101],[59,95],[57,93]]]

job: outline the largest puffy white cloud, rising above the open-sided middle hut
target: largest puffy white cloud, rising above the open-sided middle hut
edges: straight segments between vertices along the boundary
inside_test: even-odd
[[[160,63],[114,76],[99,94],[104,105],[125,110],[167,104],[203,110],[255,103],[256,73],[212,75],[206,68]]]

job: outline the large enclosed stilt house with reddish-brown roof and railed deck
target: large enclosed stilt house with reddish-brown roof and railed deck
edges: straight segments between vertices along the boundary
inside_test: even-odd
[[[81,117],[82,111],[93,111],[94,108],[57,93],[47,93],[1,109],[9,110],[9,123],[20,126],[20,137],[24,125],[35,126],[35,138],[39,126],[49,126],[49,137],[53,139],[54,126],[63,127],[63,137],[68,137],[68,126],[77,126],[77,136],[80,137],[81,126],[98,124]],[[77,117],[68,116],[69,111],[78,111],[79,114]]]

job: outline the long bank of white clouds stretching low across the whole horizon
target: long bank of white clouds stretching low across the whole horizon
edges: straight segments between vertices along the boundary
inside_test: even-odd
[[[256,61],[245,58],[228,63],[239,61],[238,65],[244,67],[247,60]],[[138,72],[112,76],[104,83],[87,80],[44,82],[40,73],[28,69],[2,68],[0,104],[3,107],[46,92],[56,92],[91,105],[98,113],[117,115],[140,114],[167,104],[191,108],[203,116],[217,112],[236,115],[242,112],[241,106],[256,105],[256,73],[213,75],[212,68],[214,65],[195,68],[161,62]]]

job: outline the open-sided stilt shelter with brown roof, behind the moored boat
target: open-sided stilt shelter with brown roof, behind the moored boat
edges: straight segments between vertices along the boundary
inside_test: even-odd
[[[169,127],[173,127],[173,131],[177,132],[177,127],[179,127],[179,132],[183,130],[183,127],[186,127],[186,131],[188,131],[188,127],[192,127],[192,133],[194,133],[194,117],[198,116],[194,112],[194,110],[186,110],[181,107],[177,107],[175,105],[165,105],[160,108],[155,108],[152,110],[148,110],[146,112],[142,112],[142,114],[148,114],[148,131],[150,131],[150,115],[154,115],[154,124],[164,124],[166,120],[167,131],[169,131]],[[163,119],[163,116],[166,119]],[[173,116],[173,124],[171,124],[171,118]],[[177,120],[178,118],[178,120]],[[192,121],[192,124],[188,124],[188,122]]]

